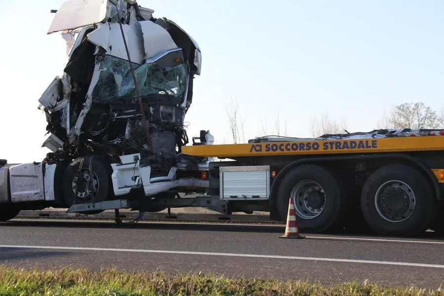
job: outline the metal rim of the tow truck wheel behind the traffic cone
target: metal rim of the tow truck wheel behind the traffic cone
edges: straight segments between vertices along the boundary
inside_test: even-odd
[[[324,211],[326,196],[318,182],[303,180],[296,184],[291,192],[298,216],[314,219]]]

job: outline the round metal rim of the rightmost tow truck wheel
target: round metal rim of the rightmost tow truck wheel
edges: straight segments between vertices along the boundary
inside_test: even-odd
[[[407,220],[416,206],[413,190],[406,183],[391,180],[376,191],[374,205],[378,214],[389,222]]]

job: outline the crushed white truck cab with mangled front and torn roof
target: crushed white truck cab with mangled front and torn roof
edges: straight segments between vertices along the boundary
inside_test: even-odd
[[[178,170],[202,170],[209,161],[181,153],[193,78],[201,72],[197,43],[136,1],[68,0],[54,12],[47,33],[62,35],[68,62],[38,101],[50,133],[45,162],[70,163],[63,187],[75,190],[64,192],[66,202],[99,202],[111,183],[114,195],[141,186],[145,195],[206,188],[208,181],[177,178]],[[131,174],[123,169],[128,160]],[[79,195],[79,186],[95,189]]]

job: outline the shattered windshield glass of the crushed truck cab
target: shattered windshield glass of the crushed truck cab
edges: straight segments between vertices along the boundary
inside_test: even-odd
[[[185,95],[187,67],[181,62],[166,64],[162,60],[133,63],[134,74],[140,95],[168,94],[180,98]],[[101,62],[100,77],[92,96],[96,103],[112,102],[120,99],[136,99],[137,94],[127,60],[106,55]]]

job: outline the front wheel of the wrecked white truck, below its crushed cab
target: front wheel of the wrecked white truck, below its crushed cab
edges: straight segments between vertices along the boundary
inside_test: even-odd
[[[83,169],[79,167],[83,161]],[[89,171],[89,162],[92,162],[92,171]],[[63,197],[68,206],[74,204],[95,203],[105,201],[111,193],[110,164],[100,157],[79,157],[71,162],[65,170],[63,176]],[[77,180],[76,173],[79,172]],[[90,179],[91,176],[91,179]],[[85,187],[86,182],[90,182],[89,188]],[[77,194],[75,194],[75,186]],[[82,211],[81,214],[98,214],[103,210]]]

